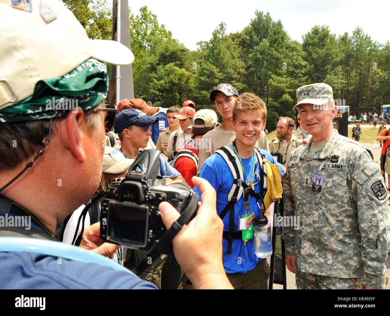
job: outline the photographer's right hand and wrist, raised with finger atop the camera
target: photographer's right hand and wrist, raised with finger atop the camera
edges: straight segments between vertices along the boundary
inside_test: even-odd
[[[197,216],[172,241],[176,260],[195,289],[232,289],[223,269],[223,223],[216,212],[215,190],[205,179],[193,177],[192,182],[202,193],[202,204]],[[162,202],[159,209],[167,229],[180,216],[168,202]]]

